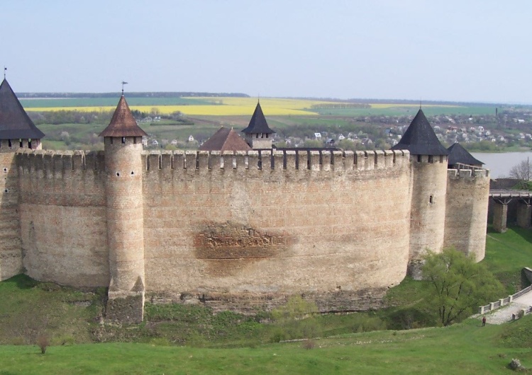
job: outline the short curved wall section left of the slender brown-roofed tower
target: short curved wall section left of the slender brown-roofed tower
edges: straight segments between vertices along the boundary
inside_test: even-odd
[[[15,154],[23,266],[35,279],[74,287],[109,285],[104,154]]]

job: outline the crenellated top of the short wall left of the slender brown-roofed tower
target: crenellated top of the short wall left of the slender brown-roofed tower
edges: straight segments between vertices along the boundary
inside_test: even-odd
[[[105,171],[104,151],[52,151],[24,149],[16,152],[23,173],[41,171],[45,175],[67,171]]]

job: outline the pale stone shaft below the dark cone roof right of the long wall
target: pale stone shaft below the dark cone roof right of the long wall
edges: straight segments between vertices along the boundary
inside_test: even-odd
[[[447,156],[411,156],[410,260],[443,247]]]

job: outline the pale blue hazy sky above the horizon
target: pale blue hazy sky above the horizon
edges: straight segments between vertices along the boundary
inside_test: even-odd
[[[532,1],[2,0],[15,92],[532,103]]]

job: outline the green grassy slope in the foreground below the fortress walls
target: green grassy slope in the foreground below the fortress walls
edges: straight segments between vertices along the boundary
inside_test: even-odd
[[[483,262],[509,293],[521,287],[531,240],[528,230],[489,230]],[[513,357],[532,367],[532,317],[426,328],[435,320],[420,307],[421,286],[406,278],[380,311],[272,322],[269,313],[215,316],[201,306],[147,304],[145,322],[126,326],[101,323],[105,289],[79,291],[18,275],[0,282],[0,375],[503,374]],[[33,345],[43,336],[51,344],[44,355]],[[306,337],[314,338],[279,342]]]

